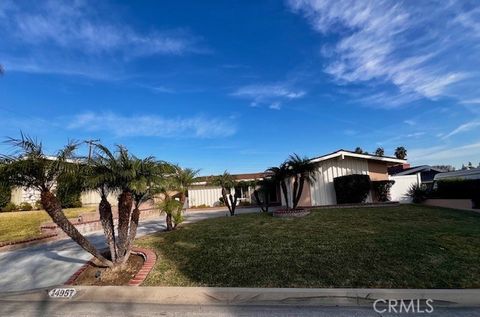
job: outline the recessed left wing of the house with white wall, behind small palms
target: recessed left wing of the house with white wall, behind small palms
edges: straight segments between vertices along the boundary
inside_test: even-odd
[[[232,177],[237,182],[230,191],[237,194],[238,204],[253,204],[255,198],[253,191],[255,190],[255,181],[262,180],[265,173],[249,173],[249,174],[233,174]],[[199,177],[197,181],[188,189],[188,205],[189,208],[197,206],[220,206],[220,197],[222,197],[222,188],[209,185],[209,180],[214,176]],[[279,189],[270,193],[270,202],[272,204],[279,203]]]

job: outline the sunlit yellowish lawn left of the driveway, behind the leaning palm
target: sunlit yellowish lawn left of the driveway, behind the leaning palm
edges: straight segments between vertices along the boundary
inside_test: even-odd
[[[68,218],[75,218],[80,214],[93,211],[95,208],[92,207],[64,209]],[[45,210],[2,212],[0,213],[0,242],[39,237],[40,225],[47,221],[51,221],[51,218]]]

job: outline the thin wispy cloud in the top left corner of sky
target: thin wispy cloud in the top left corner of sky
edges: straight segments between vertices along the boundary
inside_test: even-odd
[[[99,16],[92,3],[40,1],[20,6],[10,2],[0,23],[5,33],[22,43],[55,45],[89,54],[123,52],[126,56],[182,54],[193,49],[185,31],[153,31],[148,34],[128,24]]]

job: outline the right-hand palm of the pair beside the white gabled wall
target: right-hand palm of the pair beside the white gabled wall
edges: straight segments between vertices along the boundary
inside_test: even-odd
[[[315,181],[315,164],[310,162],[307,157],[300,157],[298,154],[290,155],[287,165],[289,166],[290,175],[293,176],[293,209],[297,208],[300,198],[302,197],[305,182],[308,184]]]

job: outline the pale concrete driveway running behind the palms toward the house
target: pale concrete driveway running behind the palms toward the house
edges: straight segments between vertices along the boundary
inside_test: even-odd
[[[237,213],[258,212],[256,208],[238,209]],[[186,213],[186,223],[225,217],[226,209]],[[165,229],[165,217],[142,221],[137,237]],[[102,231],[87,235],[98,248],[106,247]],[[91,255],[70,239],[53,241],[15,251],[0,253],[0,292],[22,291],[63,284]]]

